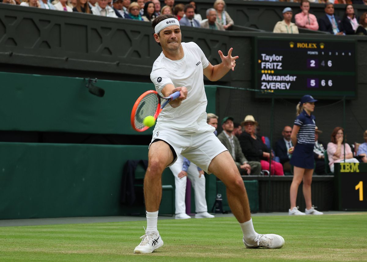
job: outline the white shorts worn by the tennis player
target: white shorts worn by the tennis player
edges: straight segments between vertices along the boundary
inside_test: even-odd
[[[175,150],[177,157],[182,154],[207,174],[211,174],[208,172],[211,160],[218,154],[228,151],[211,131],[193,135],[178,135],[172,131],[159,130],[153,133],[152,142],[155,139],[167,142]],[[173,165],[177,157],[168,166]]]

